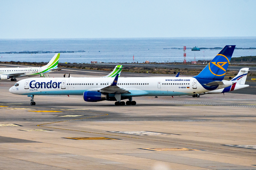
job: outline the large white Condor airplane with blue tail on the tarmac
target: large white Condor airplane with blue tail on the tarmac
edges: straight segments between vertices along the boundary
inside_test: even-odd
[[[116,101],[116,106],[136,105],[137,96],[183,96],[201,94],[232,86],[223,80],[235,45],[225,46],[195,77],[131,77],[119,78],[29,78],[15,83],[12,94],[28,95],[35,105],[35,95],[83,95],[89,102]],[[126,103],[124,99],[128,99]]]

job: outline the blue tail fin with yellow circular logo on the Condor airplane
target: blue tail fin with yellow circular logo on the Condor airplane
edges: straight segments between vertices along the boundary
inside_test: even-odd
[[[231,56],[234,52],[235,46],[225,46],[220,53],[213,58],[213,60],[194,78],[207,79],[208,82],[211,81],[221,81],[223,80],[228,65],[230,63]],[[206,82],[207,83],[207,82]]]

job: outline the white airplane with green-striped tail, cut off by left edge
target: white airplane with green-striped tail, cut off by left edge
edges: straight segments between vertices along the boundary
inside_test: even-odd
[[[47,73],[61,70],[58,68],[60,53],[55,54],[47,65],[42,67],[6,67],[0,68],[0,80],[17,81],[18,77],[31,77],[41,75],[48,77]]]

